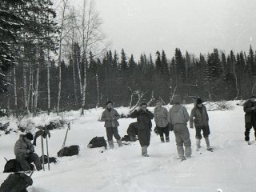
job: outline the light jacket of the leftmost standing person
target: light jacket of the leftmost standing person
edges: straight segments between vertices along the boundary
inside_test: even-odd
[[[114,118],[114,119],[113,119]],[[120,118],[120,115],[118,114],[118,111],[115,109],[104,110],[102,113],[101,122],[105,122],[105,127],[118,127],[118,119]]]

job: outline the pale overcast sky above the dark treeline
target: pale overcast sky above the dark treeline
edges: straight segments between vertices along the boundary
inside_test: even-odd
[[[74,0],[71,3],[81,3]],[[179,47],[198,55],[214,47],[256,50],[256,0],[95,0],[112,50],[136,58]]]

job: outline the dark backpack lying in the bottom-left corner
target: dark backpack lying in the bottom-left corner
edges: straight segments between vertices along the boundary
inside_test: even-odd
[[[33,180],[23,173],[9,174],[0,186],[0,192],[26,192],[26,187],[32,186]]]

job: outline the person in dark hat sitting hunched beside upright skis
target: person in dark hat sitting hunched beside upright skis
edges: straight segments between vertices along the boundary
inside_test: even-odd
[[[29,163],[31,162],[34,162],[37,170],[42,170],[42,163],[38,154],[34,153],[34,146],[30,142],[33,138],[33,134],[31,133],[21,134],[14,146],[16,160],[20,163],[24,171],[30,170]]]

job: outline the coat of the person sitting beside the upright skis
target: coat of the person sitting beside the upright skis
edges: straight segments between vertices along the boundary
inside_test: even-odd
[[[25,134],[21,134],[18,141],[15,143],[14,154],[16,156],[28,157],[27,150],[34,152],[34,146],[30,141],[25,141]]]

